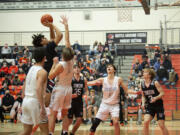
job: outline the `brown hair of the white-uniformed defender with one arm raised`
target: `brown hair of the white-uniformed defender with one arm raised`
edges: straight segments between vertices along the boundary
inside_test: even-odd
[[[69,48],[69,47],[63,48],[62,56],[63,56],[64,61],[72,60],[74,58],[74,54],[75,53],[72,50],[72,48]]]

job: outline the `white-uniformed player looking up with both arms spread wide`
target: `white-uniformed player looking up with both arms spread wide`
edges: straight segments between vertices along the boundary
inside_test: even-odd
[[[94,81],[90,81],[87,83],[88,86],[93,85],[102,85],[103,98],[96,115],[95,120],[90,128],[90,134],[94,135],[96,128],[100,124],[101,121],[104,121],[111,114],[113,120],[113,126],[115,129],[115,135],[120,135],[120,127],[119,127],[119,98],[120,98],[120,89],[121,86],[126,93],[138,94],[137,92],[128,90],[126,85],[124,84],[122,78],[115,76],[116,68],[113,64],[109,64],[107,66],[107,74],[108,76],[105,78],[99,78]]]

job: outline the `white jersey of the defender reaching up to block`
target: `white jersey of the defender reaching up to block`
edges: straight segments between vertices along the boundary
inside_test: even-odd
[[[62,73],[60,73],[56,79],[57,79],[57,85],[61,86],[70,86],[71,87],[71,82],[72,82],[72,77],[73,77],[73,60],[70,61],[60,61],[59,62],[64,70]]]

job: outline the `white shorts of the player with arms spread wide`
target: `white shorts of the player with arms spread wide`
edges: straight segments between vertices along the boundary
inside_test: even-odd
[[[109,114],[111,114],[112,118],[119,118],[119,104],[108,105],[102,102],[97,112],[96,118],[104,121],[108,118]]]

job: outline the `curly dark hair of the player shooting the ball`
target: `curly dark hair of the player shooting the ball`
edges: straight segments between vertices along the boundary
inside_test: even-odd
[[[42,46],[42,44],[41,44],[42,38],[44,38],[44,35],[42,35],[42,34],[37,34],[37,35],[33,34],[33,36],[32,36],[33,46],[34,47],[41,47]]]

